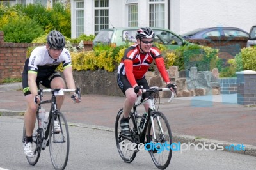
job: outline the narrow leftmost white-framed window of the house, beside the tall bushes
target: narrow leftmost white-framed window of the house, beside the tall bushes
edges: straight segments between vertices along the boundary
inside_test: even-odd
[[[76,2],[76,37],[84,33],[84,1]]]

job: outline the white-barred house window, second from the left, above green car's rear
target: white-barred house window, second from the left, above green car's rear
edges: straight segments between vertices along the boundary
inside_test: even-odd
[[[109,27],[109,1],[95,0],[94,7],[94,32],[97,35],[101,29]]]

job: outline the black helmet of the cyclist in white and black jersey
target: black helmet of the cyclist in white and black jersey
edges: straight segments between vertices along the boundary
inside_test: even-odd
[[[66,41],[59,31],[53,30],[47,35],[47,43],[51,48],[63,49]]]

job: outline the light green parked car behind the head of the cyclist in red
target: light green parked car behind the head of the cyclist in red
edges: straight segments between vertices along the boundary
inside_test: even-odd
[[[177,49],[180,45],[185,45],[187,42],[184,38],[173,33],[169,29],[151,27],[155,33],[154,42],[162,43],[168,49]],[[98,45],[112,45],[114,47],[125,45],[125,43],[136,43],[136,33],[139,27],[119,27],[102,29],[93,40],[93,47]]]

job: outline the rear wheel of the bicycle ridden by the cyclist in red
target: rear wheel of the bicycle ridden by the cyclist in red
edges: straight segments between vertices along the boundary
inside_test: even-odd
[[[130,116],[131,116],[131,112],[130,112]],[[124,160],[124,162],[131,163],[136,157],[136,151],[129,150],[128,147],[131,146],[131,144],[133,143],[128,139],[124,139],[122,136],[120,136],[120,133],[121,133],[120,120],[122,117],[123,117],[123,109],[120,109],[120,111],[116,116],[116,123],[115,123],[116,147],[122,160]],[[129,120],[129,127],[130,129],[136,128],[134,116],[132,116],[131,119]],[[127,146],[127,148],[121,147],[120,144],[122,143],[123,143],[123,146],[125,145]]]

